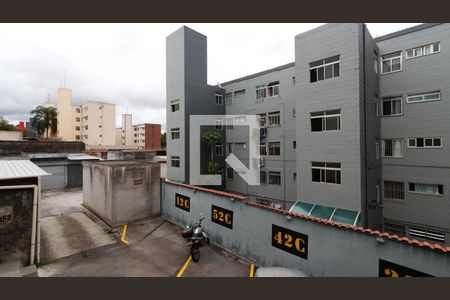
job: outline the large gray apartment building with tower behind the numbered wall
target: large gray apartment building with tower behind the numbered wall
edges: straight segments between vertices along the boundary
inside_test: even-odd
[[[248,133],[212,128],[223,185],[250,201],[450,244],[450,25],[373,38],[364,24],[327,24],[295,37],[295,62],[207,84],[206,36],[167,37],[167,178],[189,183],[189,116],[257,115],[260,185]],[[202,128],[202,130],[211,128]]]

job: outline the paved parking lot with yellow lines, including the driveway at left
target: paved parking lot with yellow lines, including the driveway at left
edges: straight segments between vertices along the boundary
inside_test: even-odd
[[[66,198],[64,193],[68,193],[68,199],[72,199],[70,205],[63,202]],[[123,228],[115,228],[115,233],[112,233],[106,224],[81,206],[81,195],[81,190],[43,194],[42,211],[52,213],[43,213],[43,224],[47,223],[47,226],[42,228],[44,249],[47,249],[43,251],[43,255],[46,255],[48,261],[43,261],[45,265],[39,268],[38,276],[248,277],[249,275],[247,262],[216,246],[201,248],[200,261],[195,263],[189,260],[189,264],[183,269],[189,258],[189,249],[180,235],[181,228],[161,218],[129,224],[124,237],[129,244],[125,244],[121,241]],[[61,202],[55,200],[55,197],[59,197]],[[61,209],[58,209],[58,206]],[[49,222],[48,218],[53,218],[52,222]],[[77,227],[75,224],[78,223],[84,225]],[[73,226],[74,230],[58,230],[54,228],[55,226]],[[62,234],[64,232],[68,236]],[[81,237],[83,234],[86,235],[85,238]],[[67,247],[70,251],[65,249]],[[52,256],[48,253],[51,251],[48,249],[59,249],[59,252],[53,250],[53,253],[59,253],[53,255],[55,260],[52,260]]]

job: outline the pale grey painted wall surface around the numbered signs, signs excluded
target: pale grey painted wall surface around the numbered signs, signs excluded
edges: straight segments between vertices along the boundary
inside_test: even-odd
[[[162,182],[161,215],[180,226],[192,224],[200,213],[211,240],[260,266],[300,269],[308,275],[365,276],[379,275],[379,260],[386,260],[433,276],[450,276],[450,256],[441,250],[385,238],[376,241],[354,227],[340,228],[313,220],[291,217],[278,212],[231,201],[232,195],[219,195]],[[175,194],[190,197],[190,211],[175,207]],[[211,222],[211,206],[233,212],[232,229]],[[307,259],[272,246],[272,225],[307,235]],[[450,250],[449,248],[447,248]],[[447,251],[448,251],[447,250]]]

